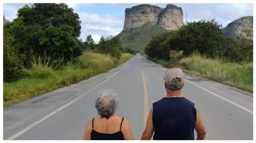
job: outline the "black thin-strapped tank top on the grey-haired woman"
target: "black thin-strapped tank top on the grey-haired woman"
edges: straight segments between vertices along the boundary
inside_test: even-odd
[[[94,118],[95,119],[95,118]],[[94,122],[93,119],[93,122]],[[120,130],[115,133],[100,133],[94,130],[94,125],[93,125],[93,130],[91,131],[91,140],[124,140],[124,135],[121,131],[122,128],[122,123],[124,121],[124,118],[122,118],[122,122],[120,125]]]

